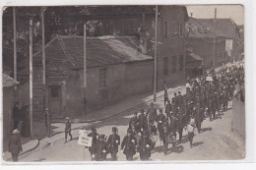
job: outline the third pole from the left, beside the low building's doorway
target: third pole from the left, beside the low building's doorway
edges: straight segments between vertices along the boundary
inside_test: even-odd
[[[44,8],[41,9],[41,54],[42,54],[42,109],[43,112],[45,111],[45,108],[47,107],[46,104],[46,82],[45,82],[45,35],[44,35]]]

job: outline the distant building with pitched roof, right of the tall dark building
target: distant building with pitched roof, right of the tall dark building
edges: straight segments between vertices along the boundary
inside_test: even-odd
[[[218,29],[202,24],[199,19],[189,18],[186,33],[187,48],[202,58],[206,68],[228,62],[226,37]]]

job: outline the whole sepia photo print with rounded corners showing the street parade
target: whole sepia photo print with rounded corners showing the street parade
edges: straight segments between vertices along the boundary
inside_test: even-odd
[[[242,5],[2,13],[3,161],[245,157]]]

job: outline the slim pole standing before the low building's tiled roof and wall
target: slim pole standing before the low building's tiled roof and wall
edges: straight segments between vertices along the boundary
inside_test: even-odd
[[[84,111],[87,119],[87,25],[84,25]]]

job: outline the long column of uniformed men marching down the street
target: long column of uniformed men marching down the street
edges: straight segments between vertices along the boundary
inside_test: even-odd
[[[116,160],[120,143],[121,152],[127,160],[133,160],[136,152],[141,160],[149,160],[159,139],[163,153],[167,154],[168,143],[174,147],[177,136],[178,142],[182,142],[183,129],[187,131],[190,147],[193,147],[194,129],[201,133],[201,125],[207,117],[210,121],[220,117],[221,110],[227,110],[235,85],[244,83],[244,68],[241,65],[224,66],[221,74],[213,70],[210,75],[211,79],[206,74],[194,81],[188,79],[186,93],[174,92],[171,102],[164,85],[164,112],[162,108],[157,109],[154,103],[151,103],[146,114],[144,109],[140,113],[135,112],[122,142],[116,127],[112,128],[112,135],[107,140],[104,135],[96,134],[93,127],[89,134],[89,137],[93,137],[93,144],[89,148],[92,160],[106,160],[108,153],[112,160]]]

